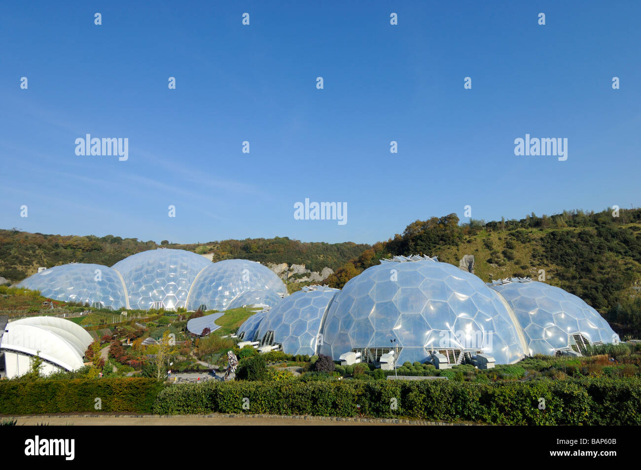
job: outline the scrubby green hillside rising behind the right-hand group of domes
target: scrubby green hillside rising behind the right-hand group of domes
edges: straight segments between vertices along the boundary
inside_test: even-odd
[[[408,225],[402,235],[374,244],[337,270],[328,284],[342,287],[378,259],[391,255],[438,256],[459,265],[474,255],[484,281],[512,276],[562,287],[599,310],[622,334],[641,332],[641,210],[528,215],[520,221],[470,221],[456,214]],[[543,278],[543,275],[545,276]]]

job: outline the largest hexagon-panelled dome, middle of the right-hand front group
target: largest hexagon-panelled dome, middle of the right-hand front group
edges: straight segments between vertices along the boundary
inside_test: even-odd
[[[396,346],[398,364],[426,362],[443,349],[483,351],[513,364],[526,346],[509,306],[483,281],[426,256],[395,256],[349,280],[329,305],[322,334],[320,352],[334,360],[353,349]]]

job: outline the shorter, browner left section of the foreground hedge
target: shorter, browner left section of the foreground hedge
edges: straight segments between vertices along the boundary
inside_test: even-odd
[[[163,387],[149,378],[3,380],[0,413],[149,413]],[[102,410],[94,408],[96,398],[102,400]]]

